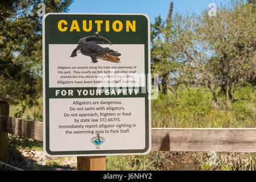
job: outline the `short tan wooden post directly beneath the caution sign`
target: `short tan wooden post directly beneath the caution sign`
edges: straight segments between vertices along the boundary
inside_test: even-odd
[[[105,171],[105,169],[105,156],[78,157],[78,171]]]

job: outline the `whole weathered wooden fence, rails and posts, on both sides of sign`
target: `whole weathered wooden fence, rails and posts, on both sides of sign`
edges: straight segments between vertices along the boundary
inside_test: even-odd
[[[7,159],[7,133],[43,141],[42,122],[11,118],[7,115],[9,105],[0,103],[2,162]],[[154,151],[256,152],[256,129],[154,128],[151,144]],[[78,170],[105,170],[105,156],[78,157]]]

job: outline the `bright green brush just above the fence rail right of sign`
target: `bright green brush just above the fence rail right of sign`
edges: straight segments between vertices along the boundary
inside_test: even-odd
[[[160,92],[159,98],[152,100],[152,127],[255,127],[254,90],[237,90],[231,106],[225,97],[215,102],[208,88],[179,86],[177,96]],[[242,99],[245,97],[249,100]]]

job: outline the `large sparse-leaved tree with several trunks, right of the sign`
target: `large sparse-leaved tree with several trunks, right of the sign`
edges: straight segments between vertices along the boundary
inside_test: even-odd
[[[173,20],[172,54],[182,62],[184,80],[207,86],[219,96],[234,100],[239,86],[256,77],[256,14],[251,3],[234,1],[217,10],[217,16],[178,16]],[[173,35],[172,35],[173,37]]]

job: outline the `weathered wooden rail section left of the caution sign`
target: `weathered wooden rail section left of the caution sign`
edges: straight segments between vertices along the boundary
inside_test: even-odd
[[[0,131],[43,141],[43,122],[0,116]]]

